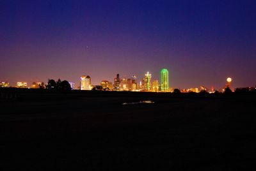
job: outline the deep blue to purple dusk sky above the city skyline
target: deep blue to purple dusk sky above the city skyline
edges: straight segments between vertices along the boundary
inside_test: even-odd
[[[0,1],[0,81],[92,84],[161,68],[170,86],[256,84],[256,1]]]

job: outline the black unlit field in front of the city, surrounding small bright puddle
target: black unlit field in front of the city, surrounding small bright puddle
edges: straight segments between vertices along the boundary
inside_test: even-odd
[[[253,95],[0,93],[0,170],[255,168]]]

